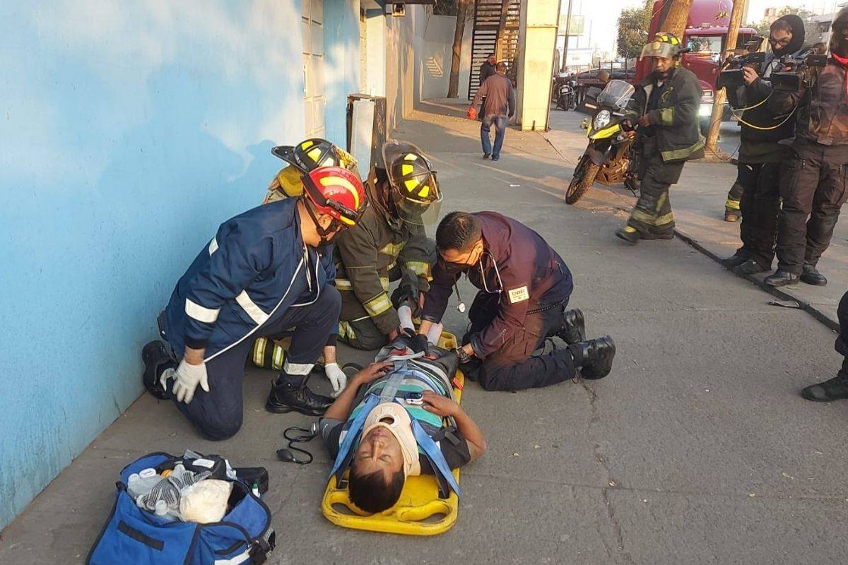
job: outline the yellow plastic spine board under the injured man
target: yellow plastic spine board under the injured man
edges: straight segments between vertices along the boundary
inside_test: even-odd
[[[455,347],[455,335],[444,332],[438,345],[445,349]],[[465,385],[465,377],[459,370],[456,371],[456,380],[460,386]],[[456,402],[460,402],[462,391],[454,388],[454,396]],[[459,483],[459,469],[454,469],[454,477]],[[321,512],[330,522],[343,528],[384,534],[437,535],[448,531],[456,522],[459,499],[453,491],[447,499],[439,498],[436,478],[418,475],[406,479],[397,504],[379,514],[369,515],[354,506],[347,490],[336,488],[336,478],[332,477],[324,490]]]

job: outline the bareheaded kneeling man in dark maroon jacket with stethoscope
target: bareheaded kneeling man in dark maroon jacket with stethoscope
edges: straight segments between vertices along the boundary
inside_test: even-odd
[[[455,354],[484,389],[553,385],[572,379],[577,369],[587,379],[610,373],[615,345],[608,335],[586,341],[583,313],[566,310],[572,274],[541,235],[499,213],[452,212],[438,225],[436,246],[439,260],[424,296],[417,336],[421,349],[426,348],[424,335],[442,320],[456,281],[465,273],[480,291],[468,312],[465,345]],[[554,335],[569,346],[531,356]]]

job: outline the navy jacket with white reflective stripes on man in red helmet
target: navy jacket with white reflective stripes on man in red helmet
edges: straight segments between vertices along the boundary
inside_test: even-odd
[[[220,224],[177,282],[166,334],[177,354],[206,349],[206,360],[252,335],[288,307],[317,300],[335,280],[332,248],[304,245],[297,199],[253,208]]]

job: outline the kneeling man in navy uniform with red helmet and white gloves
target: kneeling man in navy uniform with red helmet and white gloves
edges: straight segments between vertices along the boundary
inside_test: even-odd
[[[360,218],[365,191],[355,174],[338,167],[315,169],[302,181],[302,197],[220,225],[160,316],[170,347],[153,341],[142,351],[148,391],[171,398],[209,439],[225,440],[242,425],[244,363],[260,336],[292,332],[269,411],[317,416],[332,404],[310,391],[306,379],[338,335],[342,302],[327,244]]]

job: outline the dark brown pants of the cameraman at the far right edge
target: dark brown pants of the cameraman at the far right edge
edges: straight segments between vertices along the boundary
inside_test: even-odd
[[[778,269],[801,274],[830,245],[848,197],[848,147],[804,143],[780,169],[783,209],[778,222]]]

